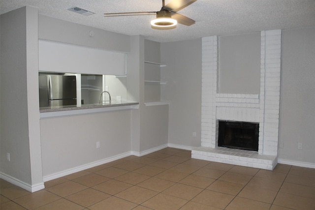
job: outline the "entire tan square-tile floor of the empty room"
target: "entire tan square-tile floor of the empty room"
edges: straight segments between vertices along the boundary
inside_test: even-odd
[[[315,169],[273,171],[191,159],[166,148],[45,182],[0,180],[1,210],[315,210]]]

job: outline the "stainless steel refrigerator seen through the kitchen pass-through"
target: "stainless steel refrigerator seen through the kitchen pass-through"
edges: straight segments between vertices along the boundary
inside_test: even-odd
[[[76,77],[39,75],[39,107],[77,104]]]

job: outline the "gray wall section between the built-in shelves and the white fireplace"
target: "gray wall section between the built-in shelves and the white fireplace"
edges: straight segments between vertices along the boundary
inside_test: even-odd
[[[161,43],[161,98],[169,100],[168,143],[199,147],[201,132],[201,39]],[[192,137],[195,131],[197,136]]]

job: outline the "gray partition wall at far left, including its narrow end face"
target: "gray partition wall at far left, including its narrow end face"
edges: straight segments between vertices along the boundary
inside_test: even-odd
[[[37,9],[23,7],[0,18],[0,175],[32,192],[44,188],[38,112],[37,15]]]

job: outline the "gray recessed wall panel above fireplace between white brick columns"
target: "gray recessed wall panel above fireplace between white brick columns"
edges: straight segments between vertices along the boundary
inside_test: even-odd
[[[260,33],[219,37],[219,93],[260,93]]]

